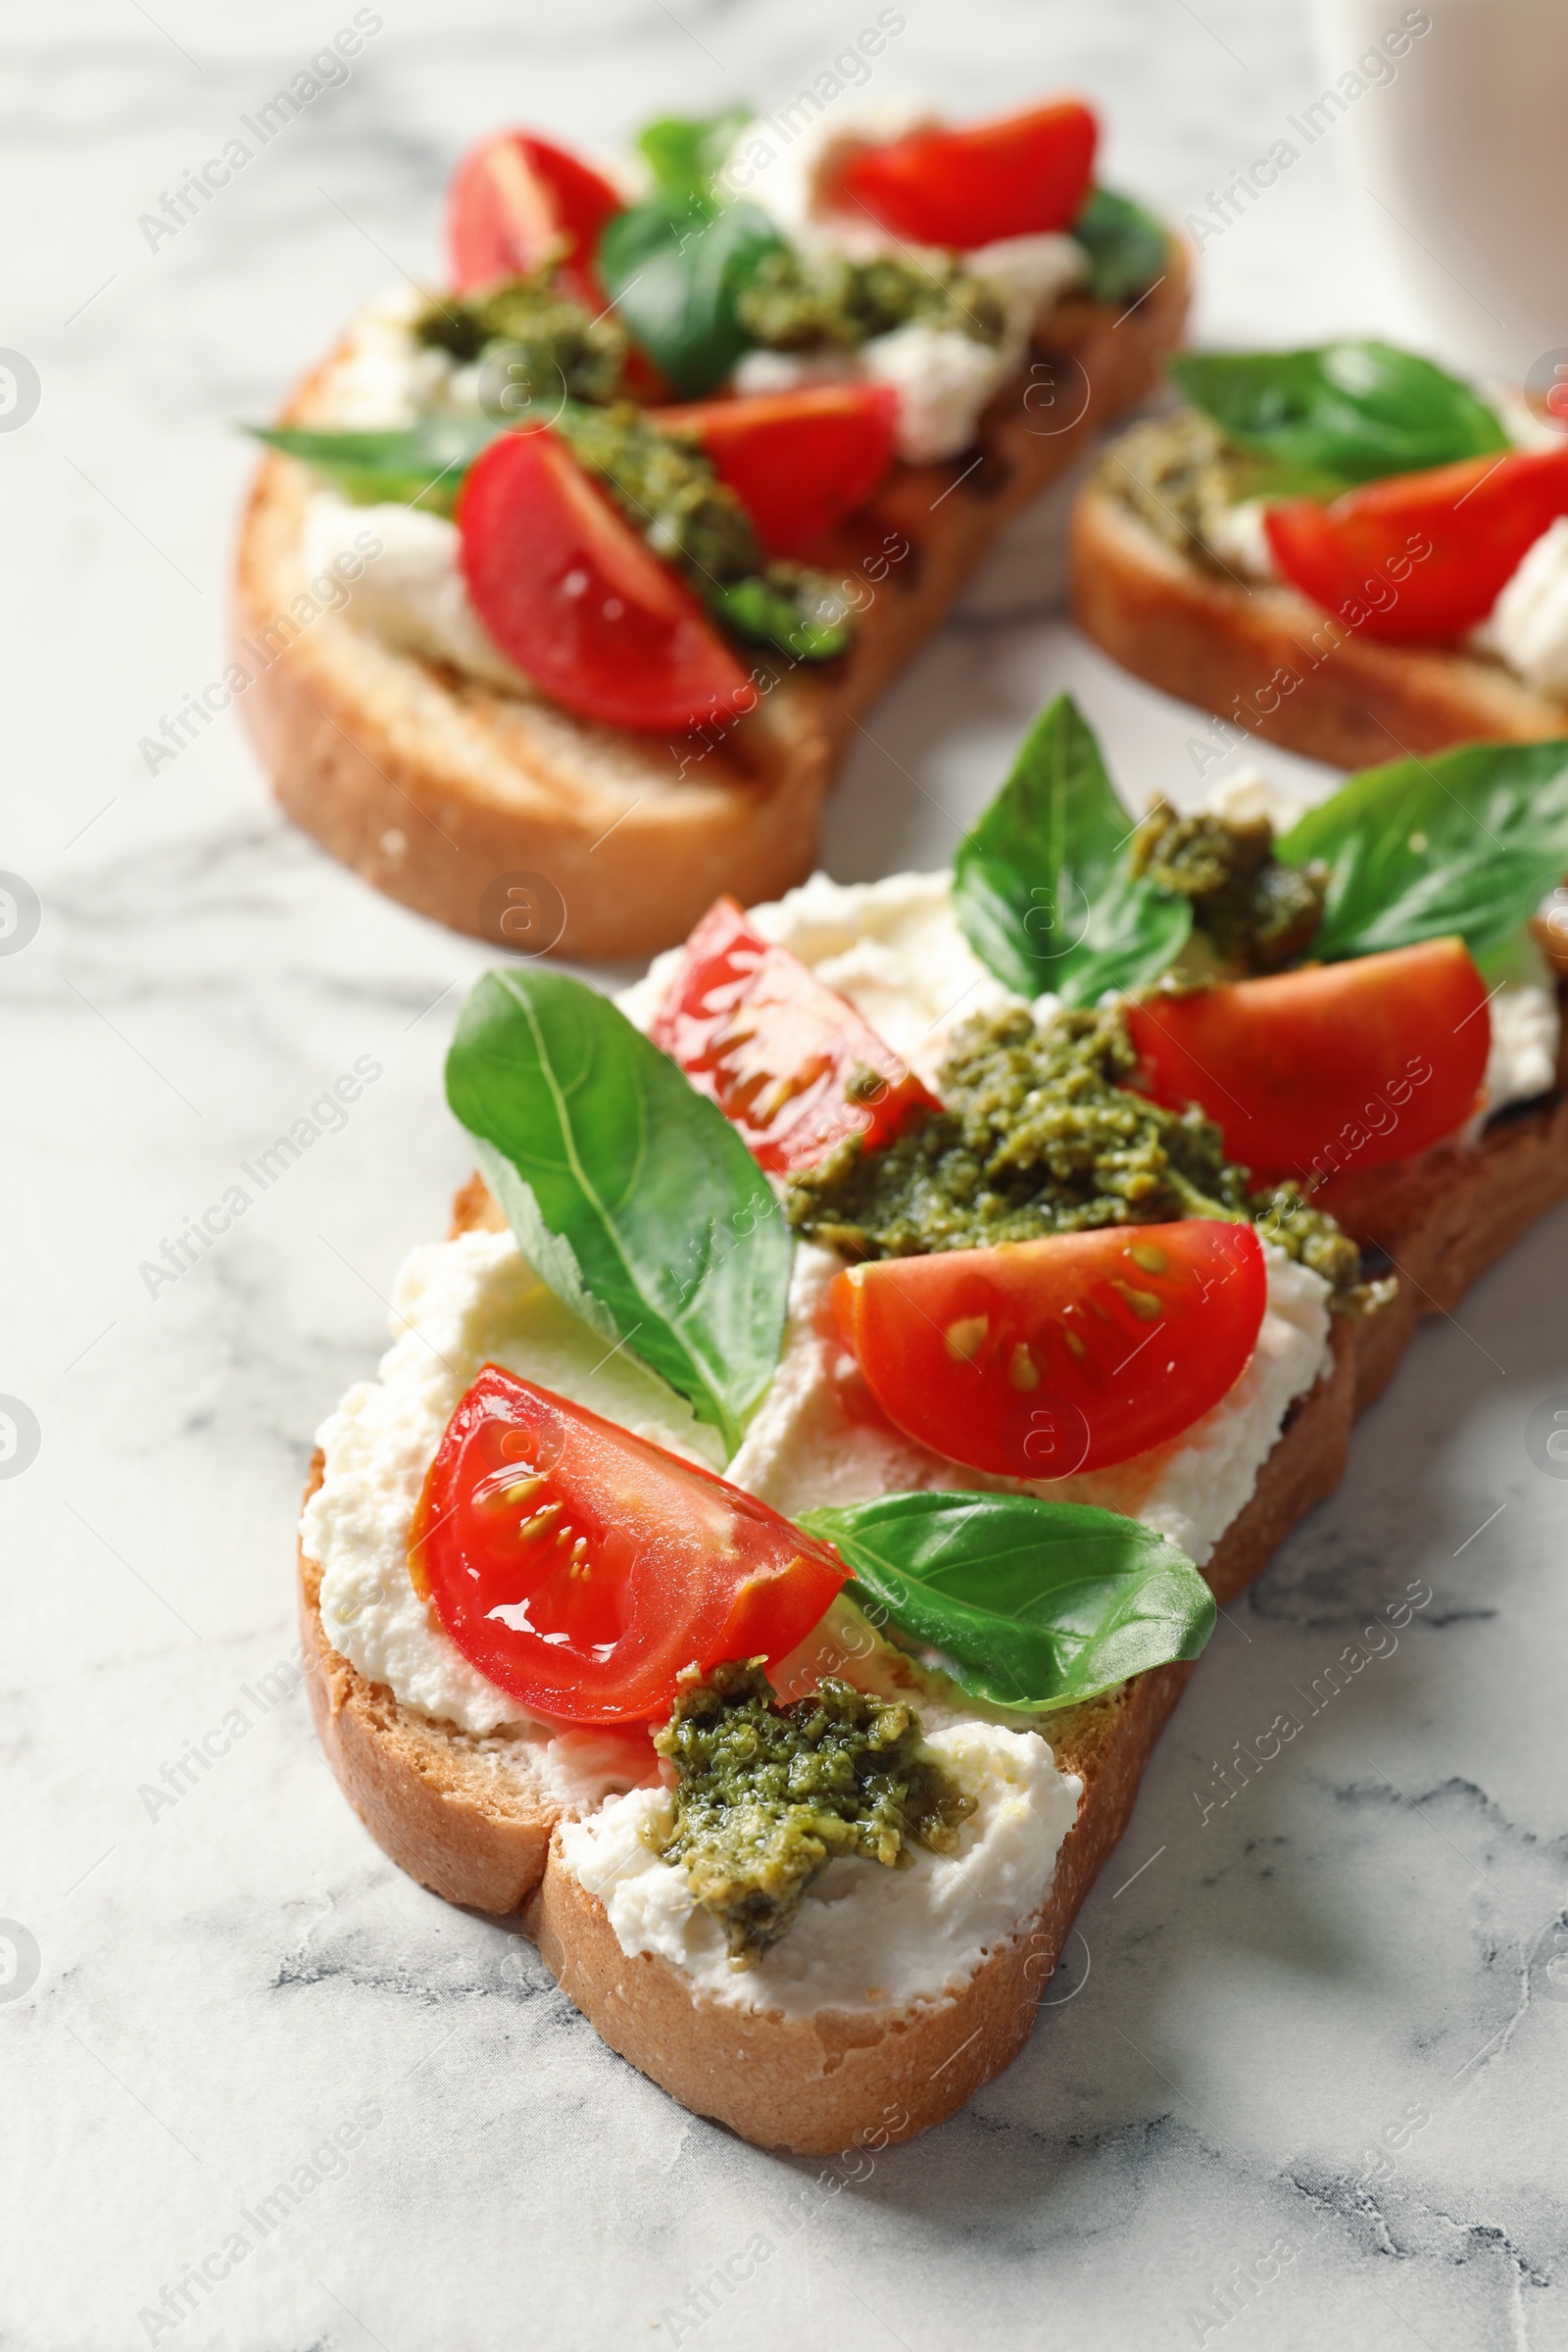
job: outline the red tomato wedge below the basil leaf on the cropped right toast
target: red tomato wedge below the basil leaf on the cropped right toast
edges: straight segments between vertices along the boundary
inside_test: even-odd
[[[1368,637],[1441,644],[1488,616],[1568,515],[1568,447],[1396,473],[1333,506],[1284,499],[1265,529],[1293,588]]]

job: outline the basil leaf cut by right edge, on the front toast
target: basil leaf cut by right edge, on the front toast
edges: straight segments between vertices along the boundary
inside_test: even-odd
[[[1312,941],[1326,962],[1453,931],[1486,955],[1568,870],[1568,739],[1371,767],[1307,809],[1279,856],[1331,868]]]

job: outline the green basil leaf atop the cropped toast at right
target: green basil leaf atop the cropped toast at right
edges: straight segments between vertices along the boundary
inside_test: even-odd
[[[1509,447],[1467,383],[1394,343],[1190,350],[1168,365],[1187,400],[1244,449],[1342,485]]]

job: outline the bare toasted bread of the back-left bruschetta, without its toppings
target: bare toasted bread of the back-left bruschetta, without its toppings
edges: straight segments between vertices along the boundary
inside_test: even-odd
[[[273,654],[240,696],[277,797],[376,889],[508,946],[508,882],[562,955],[675,946],[719,891],[778,898],[813,866],[856,717],[940,626],[1001,524],[1150,390],[1185,315],[1175,242],[1166,275],[1124,315],[1060,303],[1041,358],[1065,365],[997,395],[973,459],[898,466],[842,534],[835,569],[863,597],[851,652],[795,668],[710,748],[597,727],[397,652],[355,628],[353,602],[301,628],[289,609],[308,593],[310,477],[268,456],[240,534],[235,642],[252,670],[247,644]],[[313,383],[292,421],[310,416]]]

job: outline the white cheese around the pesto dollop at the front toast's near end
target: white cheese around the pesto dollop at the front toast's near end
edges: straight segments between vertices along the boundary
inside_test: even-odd
[[[736,2009],[811,2016],[933,2002],[1039,1912],[1084,1783],[1058,1771],[1037,1731],[964,1722],[931,1731],[929,1745],[976,1799],[957,1851],[910,1846],[900,1870],[863,1858],[827,1863],[755,1969],[731,1966],[686,1872],[661,1863],[646,1842],[644,1832],[668,1830],[668,1790],[632,1790],[567,1825],[562,1856],[604,1903],[623,1952],[658,1952],[698,1992]]]

